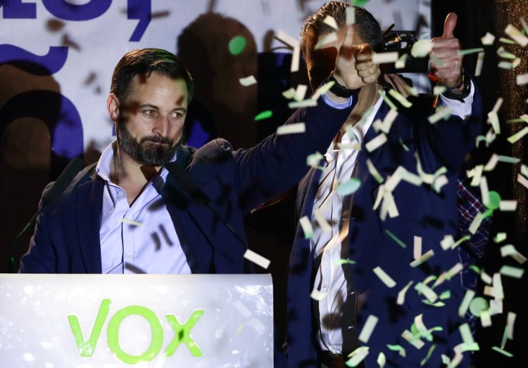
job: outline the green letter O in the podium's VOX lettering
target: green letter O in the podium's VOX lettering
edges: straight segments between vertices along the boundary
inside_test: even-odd
[[[151,325],[152,340],[149,349],[142,355],[130,355],[125,353],[119,346],[119,326],[122,320],[125,320],[129,315],[141,315]],[[119,360],[127,364],[137,364],[139,362],[149,362],[153,360],[161,350],[163,345],[163,327],[161,322],[149,308],[139,305],[132,305],[130,307],[122,308],[113,315],[110,322],[108,322],[108,329],[106,330],[106,341],[108,341],[108,348],[118,357]]]

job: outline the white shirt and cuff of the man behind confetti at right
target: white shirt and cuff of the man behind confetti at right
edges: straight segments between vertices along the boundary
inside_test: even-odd
[[[465,119],[471,114],[472,102],[474,95],[474,86],[471,82],[470,96],[465,98],[461,103],[457,100],[450,100],[441,96],[440,105],[451,107],[452,114],[458,115]],[[341,138],[341,143],[351,143],[357,141],[360,145],[366,136],[372,121],[382,105],[380,97],[375,103],[372,110],[368,111],[363,117],[363,125],[354,127],[354,137],[349,136],[348,132]],[[339,105],[326,101],[330,105]],[[348,103],[343,106],[350,105]],[[338,107],[338,106],[336,106]],[[338,107],[339,108],[339,107]],[[315,195],[313,205],[312,223],[313,237],[310,239],[310,247],[313,251],[314,258],[320,257],[320,265],[315,270],[315,280],[313,289],[322,293],[327,293],[325,298],[318,302],[319,323],[318,323],[318,343],[321,350],[328,350],[334,354],[342,353],[343,335],[341,333],[341,317],[343,316],[343,306],[347,298],[347,287],[345,275],[341,264],[337,263],[341,259],[341,246],[348,247],[348,244],[342,242],[348,235],[348,221],[342,221],[344,196],[336,192],[339,184],[349,180],[353,174],[356,162],[358,160],[358,150],[344,148],[334,150],[334,143],[329,146],[325,154],[325,169],[321,174],[318,192]],[[325,221],[330,225],[330,231],[323,231],[315,219],[315,211],[321,211]],[[346,223],[346,228],[341,226]],[[357,334],[360,331],[356,331]]]

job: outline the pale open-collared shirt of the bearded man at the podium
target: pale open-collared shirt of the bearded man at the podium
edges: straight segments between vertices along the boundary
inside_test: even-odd
[[[113,144],[96,166],[97,175],[105,181],[99,230],[103,273],[191,273],[161,197],[167,169],[161,169],[129,206],[125,191],[110,180],[112,159]]]

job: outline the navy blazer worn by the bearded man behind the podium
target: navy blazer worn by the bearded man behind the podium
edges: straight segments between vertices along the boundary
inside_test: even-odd
[[[350,112],[351,107],[337,110],[320,99],[317,107],[299,109],[287,121],[305,122],[306,133],[274,134],[249,150],[235,151],[222,139],[199,149],[179,148],[177,162],[244,242],[169,175],[162,195],[192,272],[241,273],[247,269],[244,215],[295,185],[308,171],[306,156],[326,150]],[[42,210],[30,249],[20,261],[20,272],[101,272],[103,187],[94,165],[88,166],[61,199]]]

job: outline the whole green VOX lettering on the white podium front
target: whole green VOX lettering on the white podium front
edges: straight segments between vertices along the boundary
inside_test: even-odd
[[[103,324],[106,322],[108,313],[110,312],[110,299],[103,299],[101,306],[99,306],[99,312],[97,313],[94,326],[92,327],[92,332],[88,339],[84,339],[82,336],[82,331],[79,324],[79,319],[76,315],[68,315],[68,322],[70,323],[70,328],[72,329],[73,339],[77,344],[77,349],[79,349],[79,354],[82,357],[91,357],[95,353],[95,348],[97,341],[99,341],[99,336],[101,336],[101,331],[103,330]],[[146,322],[149,323],[151,327],[151,343],[149,348],[140,355],[131,355],[126,353],[123,350],[119,343],[119,327],[123,320],[130,315],[139,315],[144,317]],[[170,324],[170,327],[174,330],[174,337],[172,341],[168,344],[167,348],[163,354],[167,357],[171,357],[180,343],[184,343],[192,355],[195,357],[201,357],[203,354],[200,348],[191,338],[190,332],[194,327],[196,322],[203,315],[202,309],[194,310],[191,317],[181,324],[177,320],[175,315],[165,315],[165,319]],[[153,360],[156,355],[161,351],[161,346],[163,345],[163,327],[161,325],[160,319],[149,308],[142,307],[140,305],[130,305],[128,307],[122,308],[115,312],[108,321],[108,327],[106,328],[106,341],[108,343],[108,348],[111,352],[122,362],[127,364],[137,364],[139,362],[149,362]]]

